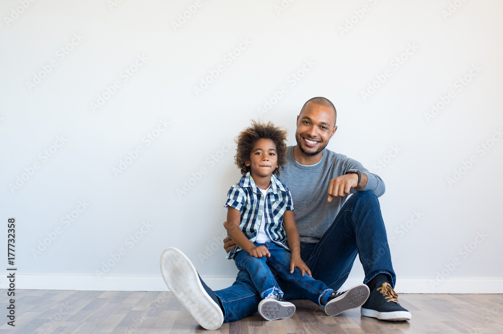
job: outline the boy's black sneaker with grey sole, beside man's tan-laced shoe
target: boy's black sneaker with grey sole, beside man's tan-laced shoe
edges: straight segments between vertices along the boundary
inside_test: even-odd
[[[369,292],[369,287],[365,284],[355,285],[348,291],[332,292],[328,295],[325,313],[334,316],[361,306],[369,297]]]

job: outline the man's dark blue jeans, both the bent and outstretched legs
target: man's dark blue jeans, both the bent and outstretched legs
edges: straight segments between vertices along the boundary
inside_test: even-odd
[[[300,247],[300,256],[313,277],[334,291],[348,278],[357,255],[365,271],[363,283],[384,273],[395,285],[396,276],[381,208],[377,197],[370,191],[353,194],[321,240],[316,244],[301,242]],[[291,283],[280,278],[277,281],[285,299],[305,297]],[[256,291],[250,276],[242,270],[232,286],[215,291],[224,309],[224,322],[240,320],[257,312],[261,298]]]

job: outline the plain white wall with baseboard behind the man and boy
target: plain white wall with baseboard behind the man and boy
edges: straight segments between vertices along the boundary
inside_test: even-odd
[[[272,99],[262,119],[294,144],[301,106],[324,96],[339,112],[328,148],[386,183],[397,290],[503,292],[501,2],[112,1],[0,5],[0,217],[16,218],[18,288],[161,290],[169,246],[213,287],[229,284],[236,269],[219,237],[240,176],[233,138]],[[463,175],[449,184],[454,170]],[[348,284],[362,279],[357,264]]]

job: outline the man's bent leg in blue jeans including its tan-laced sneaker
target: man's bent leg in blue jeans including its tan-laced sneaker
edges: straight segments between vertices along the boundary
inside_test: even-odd
[[[386,228],[379,201],[372,192],[353,194],[321,240],[315,245],[304,246],[301,256],[311,273],[333,290],[346,281],[359,255],[365,271],[363,282],[370,289],[362,314],[386,320],[410,319],[410,313],[394,297],[396,293],[392,287],[396,276]],[[390,298],[393,302],[388,302]]]

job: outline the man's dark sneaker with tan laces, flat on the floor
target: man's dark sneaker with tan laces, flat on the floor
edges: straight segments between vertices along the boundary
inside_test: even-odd
[[[362,305],[362,315],[389,321],[410,320],[411,314],[398,304],[398,295],[388,282],[379,282]]]

